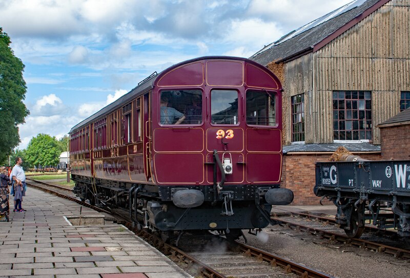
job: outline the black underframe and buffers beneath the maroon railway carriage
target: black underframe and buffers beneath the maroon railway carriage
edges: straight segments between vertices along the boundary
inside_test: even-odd
[[[269,190],[279,200],[293,199],[293,193],[286,196],[290,190],[279,185],[224,185],[220,189],[212,185],[156,186],[72,176],[76,183],[73,192],[81,200],[119,208],[128,212],[137,228],[158,231],[165,237],[174,231],[211,230],[235,240],[243,236],[242,229],[257,232],[275,224],[270,218],[272,205],[265,200]]]

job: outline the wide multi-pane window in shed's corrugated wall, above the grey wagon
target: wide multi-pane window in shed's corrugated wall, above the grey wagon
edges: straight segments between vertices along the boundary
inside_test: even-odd
[[[333,139],[372,140],[372,92],[333,91]]]

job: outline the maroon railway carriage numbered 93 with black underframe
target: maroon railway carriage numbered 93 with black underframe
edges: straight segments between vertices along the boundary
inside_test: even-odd
[[[201,57],[152,74],[70,131],[74,193],[172,231],[271,223],[280,188],[282,87],[245,58]]]

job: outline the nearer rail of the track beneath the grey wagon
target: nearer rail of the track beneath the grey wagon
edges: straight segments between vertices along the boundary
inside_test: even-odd
[[[392,247],[392,246],[388,246],[388,245],[384,245],[384,244],[380,244],[376,242],[371,242],[367,240],[362,240],[362,239],[349,238],[345,236],[344,234],[330,232],[330,231],[326,231],[326,230],[322,230],[319,228],[314,228],[314,227],[310,227],[306,225],[301,225],[301,224],[293,223],[291,221],[283,220],[280,218],[272,217],[272,219],[278,222],[285,223],[285,226],[292,230],[310,233],[313,236],[319,236],[321,238],[326,238],[326,239],[330,239],[333,241],[338,241],[342,243],[350,243],[352,245],[359,246],[361,248],[372,249],[377,252],[384,252],[387,254],[394,255],[395,258],[410,259],[410,250]]]

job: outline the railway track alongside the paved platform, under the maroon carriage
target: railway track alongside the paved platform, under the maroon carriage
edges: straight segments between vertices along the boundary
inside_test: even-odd
[[[95,209],[96,211],[116,215],[116,213],[113,211],[107,211],[82,202],[76,196],[74,196],[74,194],[68,188],[31,179],[27,179],[27,184],[31,187],[38,188],[58,197],[65,198],[78,204],[90,207],[92,209]],[[116,216],[120,217],[119,221],[131,230],[131,222],[124,220],[124,218],[119,215]],[[271,254],[269,252],[265,252],[263,250],[238,242],[234,243],[231,246],[232,251],[230,251],[229,253],[189,253],[163,242],[159,237],[156,237],[154,234],[149,233],[145,230],[137,230],[136,234],[144,238],[151,245],[155,246],[163,254],[168,255],[169,258],[171,258],[171,260],[176,262],[178,265],[185,265],[185,268],[190,273],[193,273],[194,275],[201,275],[203,277],[292,277],[292,275],[290,276],[290,273],[293,273],[294,277],[303,278],[332,277],[315,269],[282,258],[278,255]],[[229,263],[226,262],[226,258],[229,258]],[[240,262],[242,262],[242,268],[239,268],[239,265],[237,264],[238,262],[239,265]],[[238,269],[239,273],[237,272]],[[252,273],[244,274],[244,269],[247,269],[248,272],[251,269]],[[236,274],[234,273],[235,271]]]

